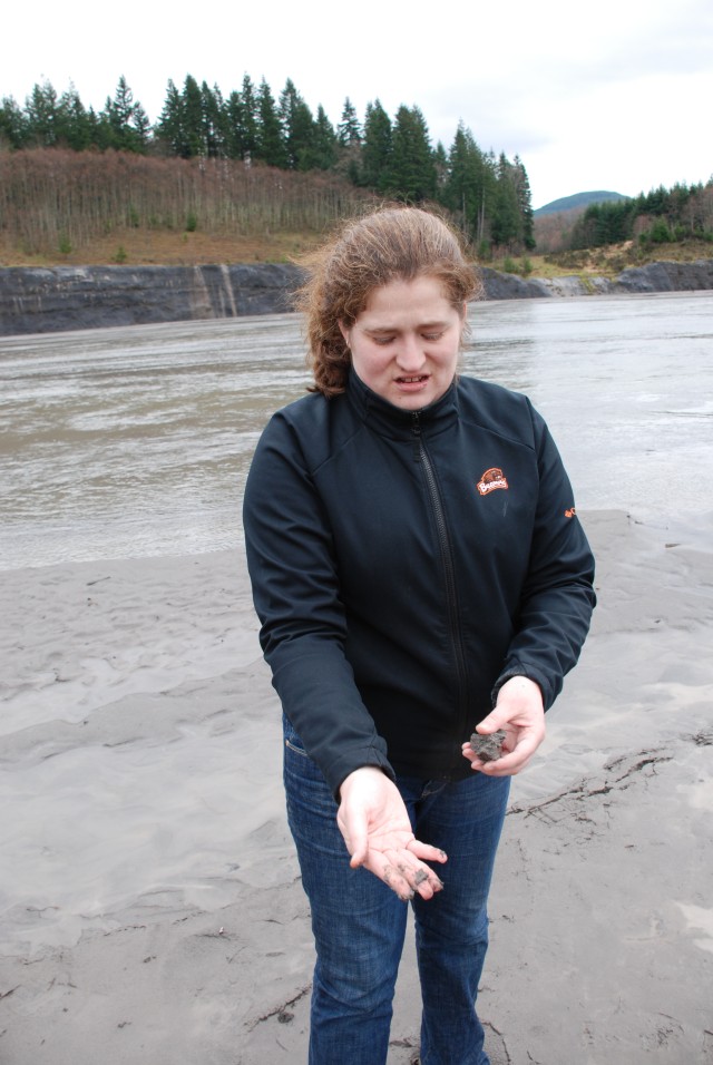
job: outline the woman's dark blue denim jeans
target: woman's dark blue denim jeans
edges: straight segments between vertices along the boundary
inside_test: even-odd
[[[383,1065],[407,908],[365,869],[350,869],[336,803],[285,719],[287,819],[312,910],[316,965],[310,1065]],[[412,901],[423,1065],[488,1065],[475,1009],[488,946],[487,899],[509,778],[397,781],[417,839],[442,848],[445,883]]]

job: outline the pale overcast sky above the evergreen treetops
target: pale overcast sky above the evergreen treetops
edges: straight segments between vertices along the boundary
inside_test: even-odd
[[[379,98],[417,104],[433,144],[462,119],[481,148],[519,155],[533,205],[588,189],[636,195],[713,174],[711,0],[13,0],[3,12],[0,97],[72,82],[100,110],[124,75],[152,123],[172,78],[240,89],[292,78],[334,125]]]

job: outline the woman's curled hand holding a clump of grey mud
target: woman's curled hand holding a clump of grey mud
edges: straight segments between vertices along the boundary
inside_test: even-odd
[[[481,735],[502,730],[505,754],[495,762],[481,762],[470,743],[463,758],[487,776],[514,776],[525,769],[545,739],[545,709],[539,685],[526,676],[514,676],[498,692],[495,710],[476,727]]]

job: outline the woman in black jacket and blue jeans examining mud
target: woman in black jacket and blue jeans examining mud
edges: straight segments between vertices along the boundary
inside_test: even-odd
[[[272,418],[246,486],[318,955],[311,1065],[385,1062],[407,900],[421,1062],[488,1062],[475,1000],[509,779],[594,606],[545,423],[525,397],[457,374],[477,291],[433,215],[348,223],[300,296],[313,394]],[[476,726],[505,732],[498,760],[470,745]]]

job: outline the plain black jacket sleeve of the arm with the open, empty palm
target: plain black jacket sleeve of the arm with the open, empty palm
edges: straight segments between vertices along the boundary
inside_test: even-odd
[[[338,795],[362,765],[391,778],[385,742],[344,655],[346,625],[326,510],[277,412],[255,451],[243,525],[261,645],[283,710]]]

